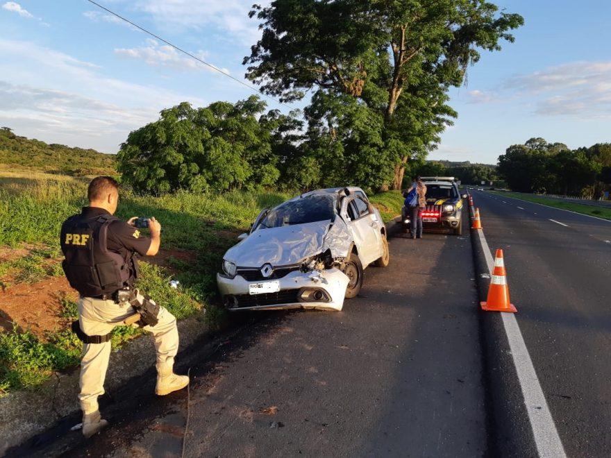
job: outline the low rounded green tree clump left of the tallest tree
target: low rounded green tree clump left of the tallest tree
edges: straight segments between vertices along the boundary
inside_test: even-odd
[[[196,109],[183,102],[162,110],[158,121],[128,135],[117,155],[118,170],[135,191],[156,194],[274,185],[282,142],[276,131],[286,130],[292,118],[260,116],[265,106],[251,96],[235,104]]]

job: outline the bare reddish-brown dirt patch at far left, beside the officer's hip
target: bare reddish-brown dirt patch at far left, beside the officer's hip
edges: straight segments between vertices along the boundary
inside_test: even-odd
[[[62,318],[60,297],[76,301],[74,291],[64,277],[53,277],[42,282],[22,283],[0,291],[0,328],[30,330],[40,339],[45,331],[60,330],[69,319]]]

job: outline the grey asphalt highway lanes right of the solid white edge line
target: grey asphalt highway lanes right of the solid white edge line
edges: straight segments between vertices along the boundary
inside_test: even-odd
[[[611,456],[611,221],[473,197],[567,456]]]

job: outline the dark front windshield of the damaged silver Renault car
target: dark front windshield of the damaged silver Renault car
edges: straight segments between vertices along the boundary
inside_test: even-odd
[[[269,210],[257,228],[278,228],[296,224],[314,223],[335,218],[335,196],[314,194],[296,201],[281,203]]]

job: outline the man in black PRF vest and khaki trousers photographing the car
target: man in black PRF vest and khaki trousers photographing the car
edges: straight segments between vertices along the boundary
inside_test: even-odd
[[[83,434],[90,437],[108,422],[101,418],[97,398],[104,393],[110,358],[110,332],[117,325],[133,323],[153,334],[157,353],[155,392],[166,395],[189,384],[186,375],[174,374],[178,352],[176,318],[154,300],[133,289],[138,269],[135,253],[154,256],[161,242],[161,224],[148,220],[151,237],[114,217],[119,185],[110,176],[94,178],[87,189],[89,205],[62,225],[62,263],[70,285],[79,293],[75,331],[83,340],[81,391]],[[136,325],[136,324],[134,324]]]

